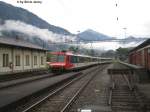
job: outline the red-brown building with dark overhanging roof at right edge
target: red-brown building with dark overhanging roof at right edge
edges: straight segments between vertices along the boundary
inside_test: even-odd
[[[150,39],[131,50],[129,62],[150,71]]]

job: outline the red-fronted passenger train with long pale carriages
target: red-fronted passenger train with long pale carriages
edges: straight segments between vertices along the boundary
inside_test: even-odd
[[[51,52],[47,64],[53,71],[74,70],[93,66],[99,63],[108,63],[111,58],[92,57],[71,52]]]

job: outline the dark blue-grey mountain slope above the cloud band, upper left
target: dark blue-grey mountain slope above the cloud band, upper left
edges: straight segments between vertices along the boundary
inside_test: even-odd
[[[70,34],[69,31],[63,28],[50,25],[49,23],[42,20],[35,14],[29,12],[28,10],[19,7],[14,7],[2,1],[0,1],[0,18],[3,20],[19,20],[41,29],[49,29],[49,31],[52,31],[53,33],[57,34]]]

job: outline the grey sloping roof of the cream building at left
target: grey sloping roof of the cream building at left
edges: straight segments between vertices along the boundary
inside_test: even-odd
[[[28,49],[36,49],[36,50],[44,50],[45,48],[40,47],[38,45],[32,44],[30,42],[26,42],[20,39],[11,39],[8,37],[0,37],[0,45],[8,45],[13,47],[22,47],[22,48],[28,48]]]

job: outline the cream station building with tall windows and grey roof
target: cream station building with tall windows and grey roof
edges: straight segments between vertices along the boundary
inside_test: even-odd
[[[29,42],[0,37],[0,75],[45,69],[46,51]]]

